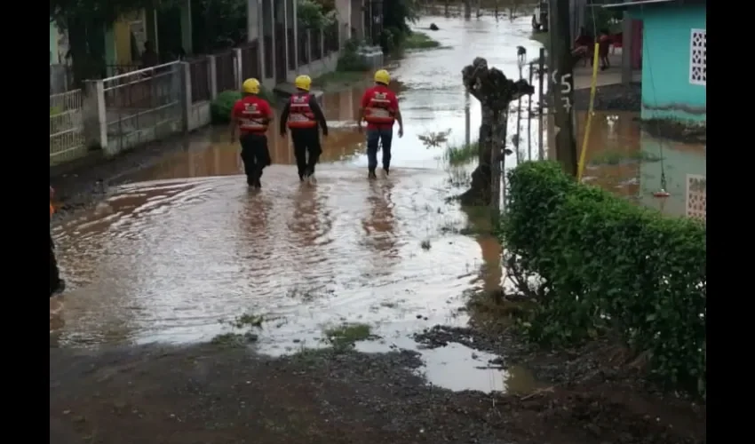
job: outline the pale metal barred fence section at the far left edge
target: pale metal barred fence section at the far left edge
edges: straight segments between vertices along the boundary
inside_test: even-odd
[[[50,164],[67,162],[86,153],[81,90],[50,96]]]

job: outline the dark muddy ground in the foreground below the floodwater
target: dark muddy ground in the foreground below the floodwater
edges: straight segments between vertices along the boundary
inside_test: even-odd
[[[524,396],[450,392],[426,385],[420,364],[413,352],[347,349],[275,359],[209,344],[51,349],[51,443],[705,442],[704,409],[659,408],[608,380]]]

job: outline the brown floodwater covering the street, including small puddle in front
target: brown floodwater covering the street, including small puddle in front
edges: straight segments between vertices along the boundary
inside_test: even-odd
[[[536,53],[538,44],[528,39],[528,20],[433,21],[442,48],[410,52],[388,67],[405,123],[390,178],[366,180],[363,135],[353,125],[361,88],[323,98],[333,129],[313,186],[298,183],[289,140],[273,129],[274,165],[258,194],[240,176],[238,147],[225,129],[195,135],[183,152],[132,173],[131,184],[95,210],[53,227],[69,283],[51,323],[55,343],[195,343],[239,331],[231,324],[243,318],[257,320],[243,329],[262,353],[329,345],[324,332],[345,323],[369,325],[379,337],[359,348],[388,351],[418,349],[409,336],[435,324],[465,325],[462,295],[490,275],[497,285],[500,274],[481,280],[481,268],[499,248],[454,234],[468,221],[446,202],[459,193],[446,146],[425,147],[418,136],[450,130],[449,143],[464,143],[462,67],[481,55],[517,75],[516,46]],[[479,124],[473,103],[472,139]],[[476,389],[505,389],[506,372],[485,369],[492,357],[447,348],[445,356],[427,352],[431,382],[469,388],[442,370],[453,365],[456,374],[488,375],[473,378]]]

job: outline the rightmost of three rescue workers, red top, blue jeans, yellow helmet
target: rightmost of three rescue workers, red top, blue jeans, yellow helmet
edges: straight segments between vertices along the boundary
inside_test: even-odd
[[[399,100],[388,89],[391,75],[385,69],[375,73],[375,86],[364,91],[362,106],[356,126],[362,131],[362,120],[367,122],[367,168],[368,178],[377,178],[377,149],[383,145],[383,170],[387,175],[391,169],[391,145],[393,141],[393,122],[399,123],[399,137],[404,135]]]

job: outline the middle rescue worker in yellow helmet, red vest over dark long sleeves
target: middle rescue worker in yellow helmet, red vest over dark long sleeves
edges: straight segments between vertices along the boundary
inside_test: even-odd
[[[297,159],[298,179],[314,178],[314,165],[320,159],[322,147],[320,146],[320,131],[322,136],[328,137],[328,123],[322,108],[314,96],[309,93],[312,79],[309,75],[299,75],[294,84],[297,92],[291,96],[289,102],[283,107],[281,115],[281,136],[286,135],[286,128],[291,131],[291,142],[294,145],[294,156]],[[307,159],[307,154],[309,158]]]

